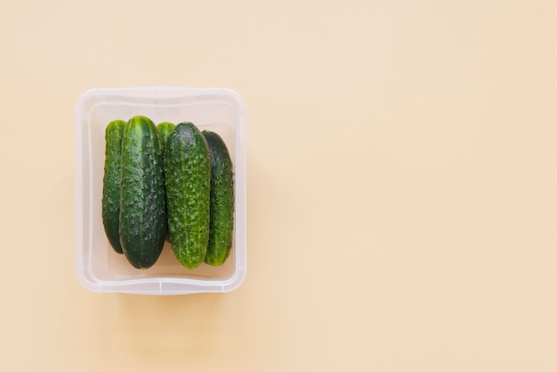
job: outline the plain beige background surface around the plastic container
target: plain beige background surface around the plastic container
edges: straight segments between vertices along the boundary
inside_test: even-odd
[[[2,365],[556,371],[557,3],[0,3]],[[74,272],[86,89],[247,105],[248,271],[226,295]]]

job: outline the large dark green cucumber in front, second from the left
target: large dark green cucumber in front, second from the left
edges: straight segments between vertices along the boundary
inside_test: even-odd
[[[157,126],[132,117],[122,138],[120,243],[137,269],[157,262],[165,244],[166,197]]]

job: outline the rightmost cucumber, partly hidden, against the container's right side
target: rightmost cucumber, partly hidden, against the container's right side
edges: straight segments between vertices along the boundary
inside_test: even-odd
[[[230,255],[234,231],[234,171],[230,153],[222,137],[203,131],[211,156],[211,198],[209,244],[205,262],[222,265]]]

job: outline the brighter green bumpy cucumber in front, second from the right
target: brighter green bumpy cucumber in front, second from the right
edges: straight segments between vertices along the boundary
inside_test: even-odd
[[[165,185],[170,245],[188,269],[205,260],[209,241],[211,159],[196,125],[183,122],[165,146]]]

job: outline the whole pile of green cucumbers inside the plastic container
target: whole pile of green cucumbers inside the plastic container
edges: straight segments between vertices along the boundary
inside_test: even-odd
[[[190,122],[114,120],[105,131],[102,223],[109,244],[137,269],[165,240],[179,263],[222,265],[234,230],[234,174],[218,133]]]

